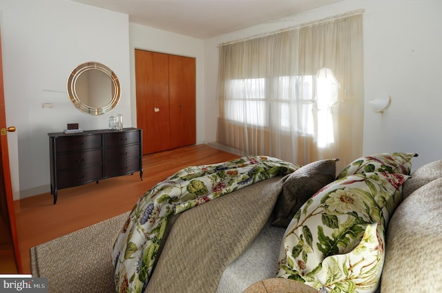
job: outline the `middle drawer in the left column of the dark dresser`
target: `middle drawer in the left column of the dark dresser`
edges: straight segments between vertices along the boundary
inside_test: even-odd
[[[57,169],[84,168],[89,165],[102,163],[102,150],[86,150],[70,154],[57,155]]]

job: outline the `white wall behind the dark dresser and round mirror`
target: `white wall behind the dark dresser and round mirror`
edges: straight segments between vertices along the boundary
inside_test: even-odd
[[[49,191],[48,132],[66,123],[83,130],[108,128],[111,114],[131,126],[128,16],[59,0],[0,0],[3,81],[14,199]],[[79,112],[66,94],[68,74],[80,63],[112,68],[122,99],[109,114]],[[53,108],[42,108],[52,103]]]

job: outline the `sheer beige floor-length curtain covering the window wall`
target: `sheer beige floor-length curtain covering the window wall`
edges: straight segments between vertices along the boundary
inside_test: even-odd
[[[218,143],[300,164],[361,156],[362,14],[220,45]]]

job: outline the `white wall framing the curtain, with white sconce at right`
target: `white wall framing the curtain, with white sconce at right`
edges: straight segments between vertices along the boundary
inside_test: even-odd
[[[364,9],[365,114],[363,154],[417,152],[413,168],[442,159],[442,1],[345,0],[204,41],[207,142],[215,141],[218,44]],[[390,94],[374,113],[368,101]],[[356,159],[356,158],[355,158]]]

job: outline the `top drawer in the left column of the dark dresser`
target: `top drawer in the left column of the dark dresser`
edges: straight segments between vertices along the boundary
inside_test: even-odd
[[[102,148],[102,136],[97,134],[59,137],[55,148],[57,153]]]

